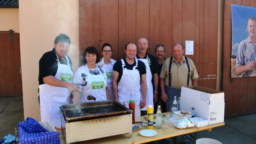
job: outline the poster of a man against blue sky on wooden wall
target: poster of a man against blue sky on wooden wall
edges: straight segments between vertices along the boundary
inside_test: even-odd
[[[231,5],[231,78],[256,76],[256,7]]]

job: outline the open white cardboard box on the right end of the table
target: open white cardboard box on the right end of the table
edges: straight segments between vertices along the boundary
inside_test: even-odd
[[[180,100],[182,110],[191,111],[192,116],[208,120],[209,125],[224,122],[224,92],[200,86],[186,86],[182,87]]]

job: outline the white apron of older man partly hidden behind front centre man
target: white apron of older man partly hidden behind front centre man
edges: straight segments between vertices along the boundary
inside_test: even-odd
[[[137,57],[136,57],[137,58]],[[152,85],[152,74],[150,71],[150,67],[148,64],[148,56],[147,59],[138,58],[141,62],[143,62],[146,66],[146,81],[147,81],[147,93],[146,93],[146,105],[141,110],[147,110],[148,105],[152,105],[154,109],[154,93],[153,93],[153,85]],[[142,97],[141,97],[142,98]]]

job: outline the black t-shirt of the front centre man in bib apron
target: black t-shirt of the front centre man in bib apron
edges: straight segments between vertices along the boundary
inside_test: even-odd
[[[132,65],[128,64],[124,59],[124,63],[125,63],[125,66],[126,66],[126,69],[127,70],[132,70],[133,69],[133,66],[136,65],[136,63],[133,63]],[[119,81],[121,80],[121,77],[123,75],[123,67],[122,67],[122,61],[121,60],[118,60],[114,66],[113,66],[113,71],[117,71],[119,73],[118,75],[118,80],[117,80],[117,84],[119,83]],[[140,60],[138,60],[138,71],[140,73],[140,75],[142,74],[146,74],[146,66],[143,62],[141,62]]]

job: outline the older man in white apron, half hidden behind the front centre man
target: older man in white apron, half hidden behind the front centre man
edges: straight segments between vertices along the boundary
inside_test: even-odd
[[[137,41],[138,46],[138,53],[136,58],[138,60],[141,60],[145,63],[147,74],[146,74],[146,80],[147,80],[147,94],[146,94],[146,107],[144,109],[141,109],[141,116],[147,115],[147,107],[148,105],[154,105],[154,107],[157,107],[157,89],[159,84],[159,76],[158,73],[160,72],[159,66],[157,64],[157,60],[153,55],[150,55],[147,53],[148,49],[148,40],[145,37],[140,37]],[[153,79],[152,79],[153,78]],[[153,85],[154,84],[154,85]],[[156,111],[154,111],[156,113]]]

